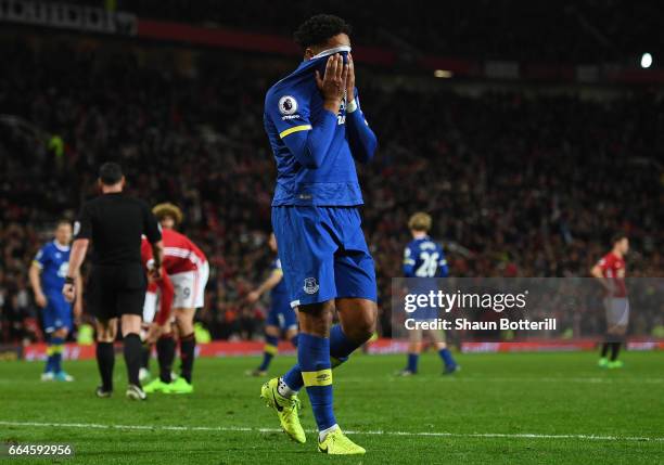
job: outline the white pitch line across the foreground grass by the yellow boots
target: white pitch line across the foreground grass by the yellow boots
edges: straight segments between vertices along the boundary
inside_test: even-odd
[[[4,422],[4,426],[36,426],[54,428],[90,428],[90,429],[128,429],[128,430],[166,430],[166,431],[226,431],[226,432],[281,432],[278,428],[251,428],[242,426],[168,426],[168,425],[104,425],[100,423],[39,423]],[[510,438],[510,439],[579,439],[590,441],[638,441],[664,442],[664,437],[637,436],[599,436],[599,435],[540,435],[531,432],[435,432],[435,431],[354,431],[349,435],[386,435],[386,436],[426,436],[437,438]],[[309,432],[315,432],[309,430]]]

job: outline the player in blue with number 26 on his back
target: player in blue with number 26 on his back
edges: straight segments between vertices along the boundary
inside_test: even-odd
[[[404,276],[418,279],[416,289],[409,292],[420,292],[426,294],[433,290],[433,279],[447,277],[449,269],[443,246],[429,236],[431,230],[431,216],[425,212],[417,212],[410,217],[408,228],[412,235],[412,241],[404,250]],[[414,280],[412,280],[414,281]],[[420,313],[414,313],[417,320],[435,320],[437,318],[436,309],[421,309]],[[418,373],[418,361],[422,351],[422,333],[424,330],[410,330],[408,332],[408,364],[406,369],[398,374],[400,376],[410,376]],[[429,337],[435,344],[438,354],[445,364],[444,374],[451,374],[459,370],[459,365],[455,362],[445,340],[443,340],[440,332],[427,330]]]

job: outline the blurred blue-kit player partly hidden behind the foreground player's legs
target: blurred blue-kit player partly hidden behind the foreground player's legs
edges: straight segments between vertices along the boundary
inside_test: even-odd
[[[273,233],[270,234],[268,245],[270,250],[277,253],[277,238]],[[272,261],[271,268],[269,277],[246,296],[246,300],[250,303],[254,303],[263,294],[268,290],[270,292],[270,309],[265,324],[263,362],[256,370],[248,372],[252,376],[265,376],[267,374],[272,358],[279,351],[279,338],[282,334],[293,344],[293,347],[297,347],[297,314],[291,308],[279,258]]]

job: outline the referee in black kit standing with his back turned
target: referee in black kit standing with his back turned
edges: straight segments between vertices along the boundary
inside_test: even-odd
[[[97,317],[97,363],[102,385],[98,397],[113,392],[113,341],[120,319],[127,364],[127,397],[144,400],[139,383],[141,367],[141,318],[146,277],[141,264],[141,235],[152,244],[154,267],[151,277],[158,279],[162,268],[162,232],[148,205],[123,193],[125,177],[119,165],[106,163],[99,170],[97,198],[84,204],[74,224],[74,244],[63,294],[74,300],[74,277],[78,275],[90,241],[93,244],[89,305]]]

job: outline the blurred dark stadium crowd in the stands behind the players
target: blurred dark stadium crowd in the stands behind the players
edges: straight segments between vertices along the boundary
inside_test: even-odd
[[[0,75],[0,340],[35,337],[28,266],[53,222],[95,194],[97,169],[110,159],[124,166],[132,194],[183,208],[183,231],[210,261],[199,319],[212,336],[259,336],[263,303],[243,296],[271,258],[274,168],[261,117],[280,76],[213,56],[184,77],[133,53],[21,41],[3,44],[0,60],[12,63]],[[433,215],[455,275],[587,275],[617,230],[633,241],[629,274],[662,275],[661,99],[386,90],[361,73],[380,141],[360,176],[383,334],[407,218],[418,209]]]

